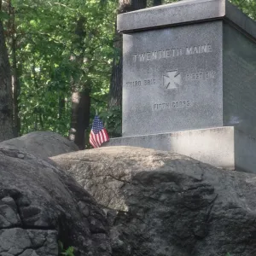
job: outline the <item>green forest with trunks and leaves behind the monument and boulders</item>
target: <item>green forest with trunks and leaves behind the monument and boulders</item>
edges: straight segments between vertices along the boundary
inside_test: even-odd
[[[96,112],[110,137],[119,137],[122,40],[116,16],[172,2],[0,0],[0,141],[55,131],[89,148]],[[230,2],[256,20],[255,0]]]

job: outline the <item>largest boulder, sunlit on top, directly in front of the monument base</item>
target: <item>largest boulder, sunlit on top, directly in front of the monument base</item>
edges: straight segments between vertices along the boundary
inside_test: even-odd
[[[51,159],[106,207],[114,256],[256,255],[253,174],[145,148]]]

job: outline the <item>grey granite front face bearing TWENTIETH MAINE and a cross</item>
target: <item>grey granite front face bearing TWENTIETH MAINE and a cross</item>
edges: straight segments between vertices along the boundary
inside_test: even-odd
[[[124,34],[124,137],[223,125],[222,30],[214,21]]]

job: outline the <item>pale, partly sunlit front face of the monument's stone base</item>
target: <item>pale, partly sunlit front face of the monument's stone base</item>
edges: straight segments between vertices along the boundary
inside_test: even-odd
[[[170,151],[187,155],[212,166],[235,170],[234,127],[176,131],[147,136],[117,137],[110,139],[105,145],[107,147],[132,146]],[[254,143],[254,149],[256,150],[256,143]],[[251,158],[251,161],[256,165],[253,158]],[[244,161],[243,165],[247,165],[247,163],[248,161]]]

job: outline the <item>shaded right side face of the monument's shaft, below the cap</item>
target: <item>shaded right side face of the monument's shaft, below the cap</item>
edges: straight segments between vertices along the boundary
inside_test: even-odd
[[[224,23],[224,125],[256,138],[256,43]]]

